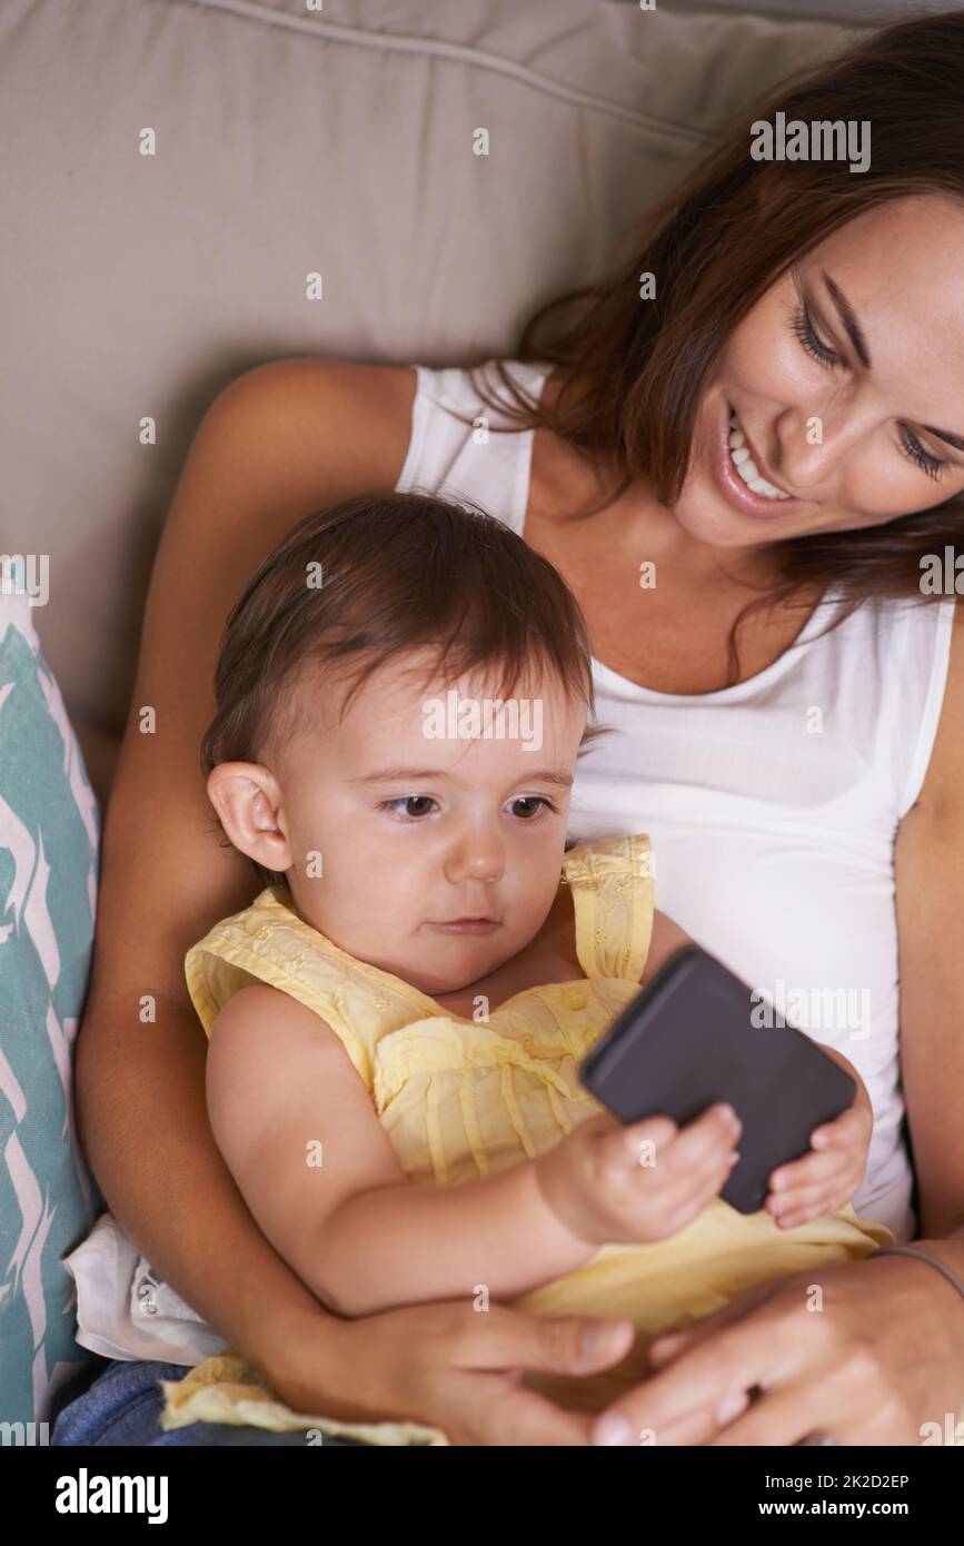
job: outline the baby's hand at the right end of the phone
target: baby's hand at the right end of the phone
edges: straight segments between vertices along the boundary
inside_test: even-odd
[[[814,1127],[811,1153],[771,1170],[765,1207],[780,1229],[796,1229],[822,1214],[836,1214],[853,1198],[867,1172],[873,1107],[857,1070],[833,1047],[822,1051],[856,1081],[857,1093],[833,1122]]]

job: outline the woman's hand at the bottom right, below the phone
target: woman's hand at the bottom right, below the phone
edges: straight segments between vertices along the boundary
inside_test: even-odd
[[[813,1285],[822,1308],[810,1308]],[[925,1262],[884,1257],[759,1283],[649,1350],[652,1379],[596,1444],[921,1444],[964,1405],[964,1302]],[[604,1424],[624,1419],[624,1436]],[[953,1427],[953,1418],[950,1419]]]

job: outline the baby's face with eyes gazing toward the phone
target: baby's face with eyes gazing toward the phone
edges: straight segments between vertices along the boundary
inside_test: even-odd
[[[345,690],[321,714],[312,702],[320,724],[273,770],[287,852],[253,856],[286,872],[301,917],[343,951],[442,994],[539,932],[559,886],[587,711],[555,677],[521,679],[508,700],[518,719],[490,708],[487,725],[497,680],[426,690],[411,677],[423,662],[377,671],[341,724]],[[482,734],[459,737],[459,724]],[[473,917],[490,921],[457,921]]]

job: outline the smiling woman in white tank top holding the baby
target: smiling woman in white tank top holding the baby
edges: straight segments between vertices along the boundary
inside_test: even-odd
[[[742,1296],[596,1421],[519,1371],[609,1367],[626,1323],[462,1303],[324,1314],[212,1141],[184,985],[187,948],[258,889],[216,846],[198,770],[233,600],[309,510],[448,479],[514,519],[587,614],[599,717],[623,734],[576,781],[576,836],[649,830],[660,906],[752,980],[794,952],[819,988],[860,979],[867,1025],[817,1036],[848,1036],[874,1098],[865,1211],[964,1280],[964,972],[939,948],[964,901],[964,643],[953,578],[921,592],[921,560],[953,547],[964,515],[962,66],[964,12],[905,23],[752,114],[868,122],[860,173],[755,161],[743,119],[632,263],[579,292],[561,340],[536,349],[530,325],[519,359],[545,363],[510,376],[538,394],[514,434],[485,444],[445,411],[448,394],[470,425],[491,416],[463,371],[283,360],[209,410],[108,807],[79,1105],[120,1224],[290,1405],[419,1418],[467,1444],[635,1442],[643,1427],[661,1444],[916,1444],[964,1402],[964,1297],[902,1255],[825,1272],[819,1316],[796,1277]],[[731,884],[706,884],[708,855],[737,877],[738,908]]]

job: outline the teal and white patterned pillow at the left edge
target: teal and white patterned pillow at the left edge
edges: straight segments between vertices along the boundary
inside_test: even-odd
[[[104,1198],[80,1155],[73,1048],[100,810],[25,592],[0,589],[0,1421],[46,1422],[90,1354],[66,1255]]]

